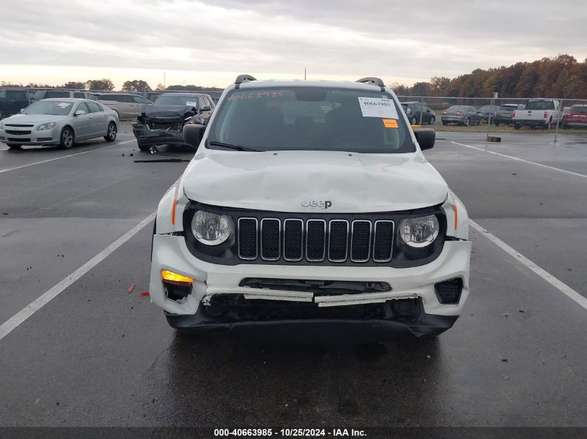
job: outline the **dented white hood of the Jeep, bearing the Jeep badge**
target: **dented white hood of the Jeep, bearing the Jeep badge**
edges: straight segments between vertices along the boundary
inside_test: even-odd
[[[200,203],[274,212],[417,209],[443,203],[448,190],[420,153],[206,150],[190,162],[182,183]]]

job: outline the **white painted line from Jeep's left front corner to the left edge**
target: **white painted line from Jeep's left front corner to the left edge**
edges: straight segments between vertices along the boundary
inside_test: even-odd
[[[55,298],[59,293],[65,290],[69,285],[76,282],[77,279],[88,273],[92,268],[97,266],[101,261],[104,261],[106,257],[110,256],[117,248],[122,246],[126,241],[129,241],[135,234],[140,232],[142,228],[149,224],[151,221],[155,219],[156,212],[153,212],[147,218],[144,218],[140,223],[135,225],[131,230],[123,234],[119,237],[116,241],[110,244],[110,246],[106,247],[104,250],[99,252],[96,256],[92,257],[88,262],[83,264],[80,268],[75,270],[71,275],[65,277],[61,282],[53,286],[49,291],[43,293],[39,298],[33,300],[30,304],[16,313],[14,316],[6,320],[2,325],[0,325],[0,340],[6,337],[13,329],[17,328],[24,320],[31,317],[35,312],[39,311],[44,305],[49,303],[49,301]]]

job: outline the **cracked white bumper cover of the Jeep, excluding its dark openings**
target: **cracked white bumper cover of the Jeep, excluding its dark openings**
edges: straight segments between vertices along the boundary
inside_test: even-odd
[[[149,291],[151,302],[158,305],[167,313],[168,320],[173,320],[174,326],[202,327],[212,329],[229,329],[232,327],[247,328],[251,326],[267,327],[278,322],[235,322],[214,323],[201,312],[212,295],[236,294],[244,295],[249,299],[287,300],[296,302],[316,302],[319,307],[340,307],[351,304],[384,303],[390,300],[417,298],[422,300],[424,313],[422,322],[415,323],[415,327],[445,327],[448,329],[458,318],[469,294],[469,261],[470,241],[446,241],[440,256],[430,264],[413,268],[390,267],[337,267],[337,266],[267,266],[263,264],[242,264],[225,266],[210,264],[195,258],[187,246],[183,236],[166,234],[154,235],[153,255],[151,264],[151,282]],[[176,273],[192,277],[195,282],[192,293],[187,298],[177,302],[165,296],[161,270],[172,270]],[[279,277],[286,279],[337,279],[349,281],[380,281],[388,282],[392,291],[383,293],[362,293],[347,295],[329,295],[313,297],[313,293],[306,291],[282,291],[276,289],[254,289],[239,286],[245,277]],[[461,277],[463,291],[458,304],[441,304],[434,291],[434,284],[445,280]],[[406,327],[399,322],[388,320],[366,320],[352,322],[345,320],[290,320],[279,322],[280,325],[299,327],[303,323],[308,327],[333,326],[361,326],[377,327],[376,331],[386,332]],[[340,329],[340,328],[339,328]],[[322,329],[320,329],[322,330]],[[411,332],[425,333],[422,329],[409,329]]]

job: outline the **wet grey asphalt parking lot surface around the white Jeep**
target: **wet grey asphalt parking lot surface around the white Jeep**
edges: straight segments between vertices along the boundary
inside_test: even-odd
[[[545,136],[438,133],[426,156],[478,225],[472,294],[439,338],[385,345],[175,334],[140,292],[186,163],[133,162],[151,156],[128,124],[115,144],[2,145],[0,324],[60,292],[0,338],[0,426],[585,427],[587,137]]]

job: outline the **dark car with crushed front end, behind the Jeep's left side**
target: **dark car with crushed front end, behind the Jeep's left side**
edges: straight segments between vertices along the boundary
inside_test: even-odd
[[[208,124],[215,104],[208,94],[164,93],[153,105],[145,105],[133,123],[140,150],[152,146],[185,144],[183,127],[190,123]]]

